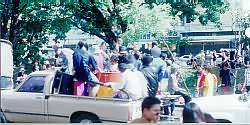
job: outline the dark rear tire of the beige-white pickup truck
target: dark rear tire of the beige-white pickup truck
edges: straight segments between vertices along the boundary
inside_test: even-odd
[[[72,123],[101,123],[99,118],[90,113],[81,113],[71,120]]]

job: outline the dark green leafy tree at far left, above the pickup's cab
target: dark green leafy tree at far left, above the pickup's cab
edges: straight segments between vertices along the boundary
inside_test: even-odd
[[[34,61],[43,62],[39,52],[49,41],[48,35],[55,34],[55,41],[66,37],[65,33],[71,28],[72,16],[70,12],[62,11],[64,7],[57,4],[20,3],[18,0],[3,2],[5,9],[1,11],[1,39],[12,42],[14,64],[25,65],[30,71]]]

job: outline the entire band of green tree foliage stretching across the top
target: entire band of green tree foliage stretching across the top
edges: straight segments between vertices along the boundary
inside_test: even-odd
[[[126,43],[136,42],[145,33],[161,37],[179,21],[179,17],[220,24],[219,14],[227,4],[218,2],[157,3],[128,0],[2,0],[1,39],[13,44],[14,63],[30,64],[41,59],[39,49],[55,34],[64,39],[72,26],[106,41],[111,48],[119,35]],[[196,8],[201,5],[205,13]]]

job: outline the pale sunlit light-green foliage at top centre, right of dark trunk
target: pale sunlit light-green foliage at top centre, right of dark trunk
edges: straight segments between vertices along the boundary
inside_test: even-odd
[[[138,42],[145,34],[150,33],[154,38],[167,34],[168,30],[178,23],[179,18],[171,16],[171,7],[167,4],[152,6],[132,3],[120,6],[121,15],[128,23],[128,29],[123,33],[126,44]]]

